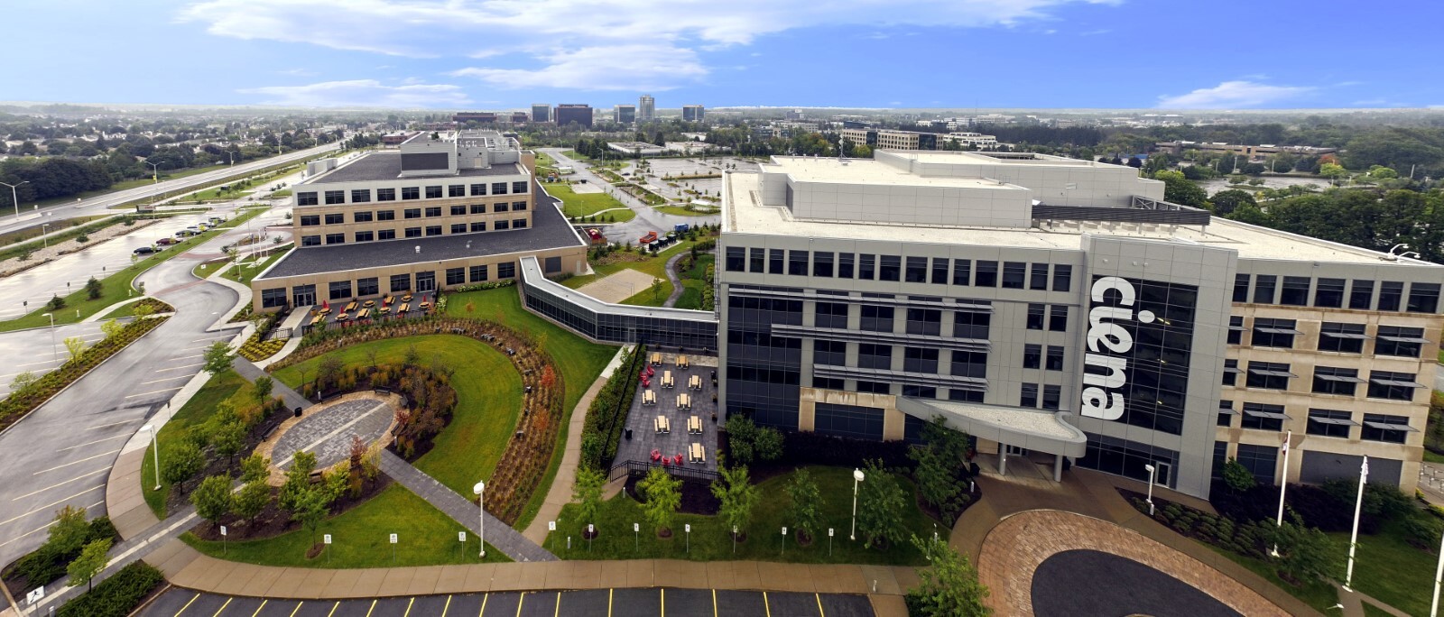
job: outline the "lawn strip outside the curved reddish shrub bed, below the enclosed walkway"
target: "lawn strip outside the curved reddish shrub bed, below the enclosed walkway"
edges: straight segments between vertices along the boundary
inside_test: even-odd
[[[468,304],[472,307],[469,311],[466,310]],[[546,476],[542,477],[540,489],[531,496],[531,502],[521,512],[521,518],[517,519],[516,528],[526,529],[542,507],[542,502],[546,500],[547,489],[556,477],[556,467],[562,463],[572,409],[576,408],[576,402],[592,386],[592,382],[602,373],[602,369],[606,368],[612,356],[617,355],[617,347],[592,343],[573,334],[570,330],[527,311],[521,307],[521,297],[513,287],[449,294],[446,297],[446,316],[492,319],[518,332],[544,334],[544,347],[562,372],[562,383],[566,386],[566,399],[563,401],[562,411],[566,414],[566,418],[562,421],[562,430],[557,431],[556,450],[552,454]]]

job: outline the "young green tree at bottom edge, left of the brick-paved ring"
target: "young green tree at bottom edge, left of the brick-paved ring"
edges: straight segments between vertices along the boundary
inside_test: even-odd
[[[978,568],[943,539],[913,536],[928,567],[917,571],[918,585],[908,590],[908,614],[927,617],[989,616],[983,604],[988,587],[978,581]],[[914,610],[917,613],[914,613]]]

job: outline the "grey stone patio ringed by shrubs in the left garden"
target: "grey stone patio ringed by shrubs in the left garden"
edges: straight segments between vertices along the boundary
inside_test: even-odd
[[[297,451],[316,456],[323,470],[351,457],[352,437],[367,447],[391,441],[391,424],[401,398],[388,394],[354,392],[308,407],[300,418],[286,418],[256,451],[271,460],[271,479],[280,480]]]

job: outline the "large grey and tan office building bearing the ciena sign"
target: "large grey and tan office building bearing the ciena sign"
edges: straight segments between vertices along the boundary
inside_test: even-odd
[[[1227,458],[1317,483],[1367,456],[1370,481],[1412,492],[1444,267],[1162,195],[1125,166],[1027,153],[729,172],[725,409],[868,440],[941,415],[1004,473],[1154,466],[1199,497]]]

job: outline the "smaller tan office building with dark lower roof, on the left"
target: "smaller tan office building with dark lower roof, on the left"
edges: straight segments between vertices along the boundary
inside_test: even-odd
[[[251,281],[256,311],[427,293],[586,268],[586,242],[495,131],[419,133],[400,151],[313,161],[296,183],[296,248]]]

